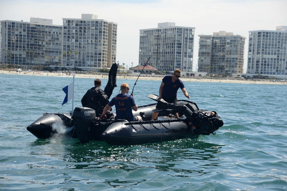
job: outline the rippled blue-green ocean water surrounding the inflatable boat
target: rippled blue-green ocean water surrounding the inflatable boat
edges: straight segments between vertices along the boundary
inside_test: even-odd
[[[224,121],[197,139],[132,146],[37,139],[26,127],[43,113],[68,113],[62,88],[72,81],[0,74],[0,190],[287,190],[286,85],[184,82],[200,109]],[[135,80],[123,82],[131,92]],[[137,105],[154,103],[147,95],[160,83],[138,80]],[[93,78],[75,78],[74,107],[92,86]]]

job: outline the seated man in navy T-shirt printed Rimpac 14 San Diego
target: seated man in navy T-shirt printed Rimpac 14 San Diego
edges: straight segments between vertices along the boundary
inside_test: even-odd
[[[134,117],[132,115],[132,109],[134,111],[137,111],[138,106],[134,102],[134,96],[128,94],[129,90],[130,90],[129,85],[123,83],[121,85],[121,93],[113,97],[113,99],[111,99],[111,101],[105,106],[101,118],[105,118],[106,112],[109,109],[111,109],[112,106],[115,105],[115,112],[116,112],[115,119],[124,119],[127,121],[141,121],[142,117],[140,116]]]

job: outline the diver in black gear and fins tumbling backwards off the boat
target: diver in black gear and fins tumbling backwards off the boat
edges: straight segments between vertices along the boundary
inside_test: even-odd
[[[192,112],[190,104],[171,104],[164,101],[161,97],[157,97],[154,100],[161,103],[165,109],[172,109],[173,112],[183,113],[188,120],[188,128],[197,135],[215,134],[215,131],[224,125],[222,119],[215,111],[199,110]]]

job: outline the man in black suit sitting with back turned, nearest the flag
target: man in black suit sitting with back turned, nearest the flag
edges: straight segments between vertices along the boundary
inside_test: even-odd
[[[86,94],[84,94],[81,102],[83,107],[95,109],[96,114],[101,114],[103,113],[105,105],[109,103],[109,99],[105,92],[100,88],[102,84],[99,78],[94,80],[94,85],[95,87],[90,88]]]

